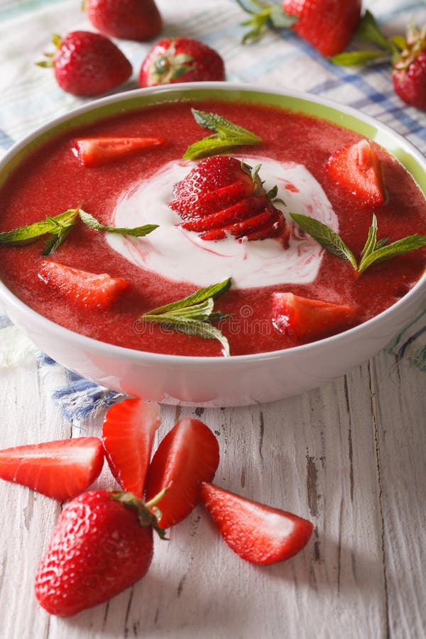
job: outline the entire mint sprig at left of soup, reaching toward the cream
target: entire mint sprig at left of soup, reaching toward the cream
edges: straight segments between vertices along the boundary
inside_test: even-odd
[[[55,217],[47,216],[45,219],[40,220],[40,222],[34,222],[34,224],[20,226],[19,229],[14,229],[13,231],[0,233],[0,244],[4,244],[4,246],[25,246],[48,235],[50,237],[45,244],[42,255],[52,255],[52,253],[58,249],[58,246],[67,239],[68,234],[75,225],[77,217],[80,217],[82,222],[91,229],[94,229],[94,231],[108,231],[109,233],[142,237],[158,229],[158,224],[145,224],[144,226],[136,226],[133,229],[104,226],[104,224],[98,222],[92,215],[82,211],[82,209],[68,209],[64,213],[55,215]]]

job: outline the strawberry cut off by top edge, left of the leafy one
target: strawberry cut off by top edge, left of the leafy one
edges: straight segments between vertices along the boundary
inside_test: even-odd
[[[144,42],[163,28],[154,0],[84,0],[83,7],[92,25],[113,38]]]

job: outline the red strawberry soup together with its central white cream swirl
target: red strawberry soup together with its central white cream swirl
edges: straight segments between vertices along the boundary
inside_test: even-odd
[[[188,146],[206,135],[191,107],[219,114],[261,137],[256,145],[239,146],[226,154],[251,168],[261,165],[258,175],[268,194],[276,185],[271,202],[285,219],[285,234],[246,241],[244,236],[226,233],[223,239],[205,241],[197,231],[184,228],[185,218],[170,207],[173,188],[195,166],[194,160],[182,160]],[[161,136],[165,143],[87,166],[73,152],[77,136]],[[325,250],[290,215],[313,217],[327,225],[350,247],[356,261],[373,214],[378,241],[425,234],[424,195],[405,168],[380,146],[372,145],[386,193],[381,204],[366,206],[356,190],[348,190],[327,171],[330,156],[360,139],[353,131],[313,116],[212,100],[158,104],[72,129],[35,151],[11,174],[1,190],[1,230],[33,224],[67,209],[84,209],[106,226],[155,224],[158,228],[135,237],[99,232],[77,219],[67,239],[48,258],[41,255],[40,241],[1,246],[1,277],[41,315],[72,331],[130,349],[220,356],[222,345],[217,339],[138,318],[226,278],[231,278],[231,288],[214,301],[214,310],[226,314],[219,328],[229,341],[231,355],[286,349],[327,337],[393,305],[425,271],[423,247],[356,272],[350,261]],[[40,277],[46,259],[124,278],[129,286],[106,310],[82,305]],[[314,331],[312,337],[297,337],[297,331],[285,331],[282,322],[276,321],[276,293],[320,300],[327,302],[327,309],[338,306],[350,312],[346,323],[331,324],[323,334]],[[316,320],[307,313],[303,321]]]

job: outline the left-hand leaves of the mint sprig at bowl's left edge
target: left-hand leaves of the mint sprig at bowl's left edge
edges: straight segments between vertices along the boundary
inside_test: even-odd
[[[55,217],[46,216],[40,222],[20,226],[13,231],[0,233],[0,244],[4,246],[26,246],[49,235],[42,254],[51,255],[67,238],[77,219],[79,209],[68,209]]]

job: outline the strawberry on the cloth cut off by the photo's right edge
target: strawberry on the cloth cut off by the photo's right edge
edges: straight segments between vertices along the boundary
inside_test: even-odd
[[[393,89],[407,104],[426,111],[426,27],[408,26],[404,50],[393,62]]]

